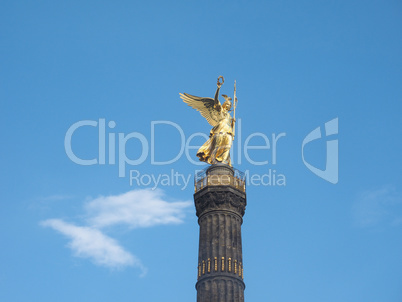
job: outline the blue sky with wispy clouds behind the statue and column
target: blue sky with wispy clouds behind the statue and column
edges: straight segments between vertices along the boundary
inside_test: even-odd
[[[180,152],[210,125],[179,92],[213,97],[222,75],[234,166],[286,179],[247,186],[246,301],[401,301],[401,34],[400,1],[3,2],[0,300],[195,301],[205,165]],[[66,153],[82,121],[71,148],[94,165]],[[325,170],[337,140],[336,184],[303,162],[317,127],[304,159]]]

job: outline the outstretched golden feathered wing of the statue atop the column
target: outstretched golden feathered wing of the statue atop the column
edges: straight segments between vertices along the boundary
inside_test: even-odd
[[[187,105],[198,110],[211,126],[219,123],[219,112],[214,106],[214,99],[200,98],[188,93],[180,93],[180,97]]]

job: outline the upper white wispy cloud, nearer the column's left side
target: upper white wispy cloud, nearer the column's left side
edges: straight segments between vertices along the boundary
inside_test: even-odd
[[[86,204],[90,225],[102,228],[125,224],[130,228],[183,222],[189,201],[168,202],[161,190],[133,190],[101,196]]]

